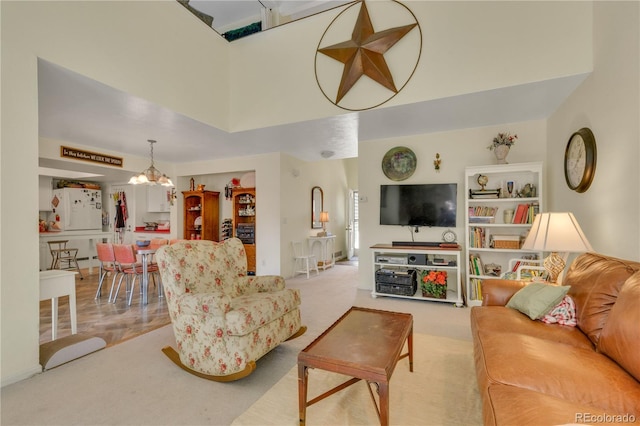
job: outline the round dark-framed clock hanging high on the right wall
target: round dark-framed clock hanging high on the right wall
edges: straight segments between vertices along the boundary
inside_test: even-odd
[[[564,151],[564,177],[567,186],[576,192],[585,192],[596,173],[596,138],[584,127],[575,132]]]

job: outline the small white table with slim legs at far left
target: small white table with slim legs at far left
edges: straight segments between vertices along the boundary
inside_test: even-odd
[[[51,269],[40,271],[40,300],[51,299],[51,340],[56,339],[58,329],[58,297],[69,296],[71,314],[71,334],[78,333],[76,316],[76,277],[77,272]]]

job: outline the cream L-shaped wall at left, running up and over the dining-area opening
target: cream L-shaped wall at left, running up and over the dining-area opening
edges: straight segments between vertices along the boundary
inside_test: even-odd
[[[177,2],[1,2],[0,8],[5,385],[40,371],[39,268],[33,256],[39,246],[37,58],[221,128],[228,122],[220,99],[228,99],[229,69],[228,43],[194,25]]]

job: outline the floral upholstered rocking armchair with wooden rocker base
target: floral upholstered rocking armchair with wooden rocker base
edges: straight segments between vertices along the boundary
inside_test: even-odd
[[[302,335],[300,293],[284,278],[248,276],[237,238],[222,243],[183,241],[158,249],[177,351],[162,351],[200,377],[231,381],[256,368],[256,360]]]

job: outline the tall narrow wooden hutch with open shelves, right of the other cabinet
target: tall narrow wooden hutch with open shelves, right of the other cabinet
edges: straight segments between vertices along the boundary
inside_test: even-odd
[[[244,244],[247,271],[256,273],[256,189],[233,188],[233,236]]]

